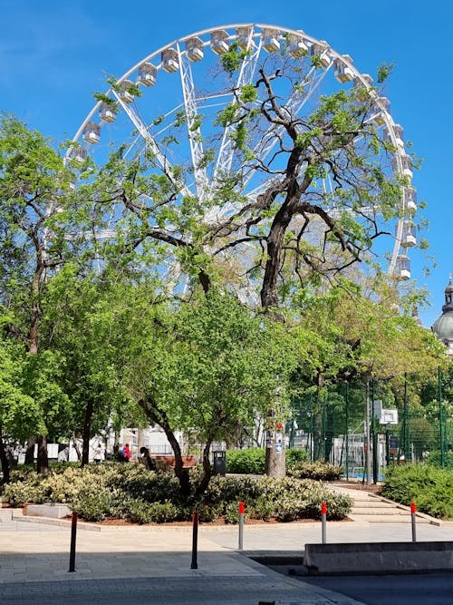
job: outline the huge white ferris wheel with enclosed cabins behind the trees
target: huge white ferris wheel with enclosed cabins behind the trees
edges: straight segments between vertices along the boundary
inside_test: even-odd
[[[222,58],[232,48],[237,49],[237,64],[230,70]],[[387,233],[381,258],[392,278],[409,279],[409,250],[417,244],[413,221],[417,197],[411,185],[412,163],[405,150],[403,129],[390,115],[389,100],[373,88],[370,75],[356,69],[352,57],[338,53],[325,41],[302,30],[269,24],[229,24],[162,46],[120,78],[111,80],[111,88],[105,93],[96,95],[98,101],[76,132],[66,161],[83,162],[90,156],[101,164],[112,150],[121,150],[124,158],[148,154],[155,171],[178,191],[175,203],[199,200],[204,204],[199,220],[218,226],[218,232],[225,233],[229,222],[240,216],[241,204],[253,206],[278,173],[278,144],[284,144],[281,125],[269,122],[250,134],[253,161],[247,164],[237,152],[234,120],[222,122],[218,117],[232,105],[238,91],[247,86],[256,88],[266,70],[297,75],[299,85],[294,86],[294,78],[282,78],[275,91],[284,112],[291,116],[315,112],[323,95],[342,89],[356,87],[369,92],[372,103],[367,120],[382,140],[390,141],[392,157],[390,161],[382,157],[382,165],[404,182],[395,218],[380,218],[385,225],[381,230]],[[360,137],[356,144],[361,144]],[[263,167],[265,170],[260,170]],[[218,183],[228,179],[234,183],[232,199],[219,193]],[[324,198],[334,216],[337,210],[333,179],[326,175],[318,188],[316,195]],[[147,198],[152,203],[152,194],[143,193],[144,204]],[[365,220],[374,211],[366,207],[359,210]],[[244,233],[246,227],[243,225],[242,229]],[[114,237],[114,229],[104,229],[100,235]],[[304,237],[313,242],[322,235],[315,221],[304,232]],[[252,248],[247,241],[229,249],[224,253],[226,262],[242,263],[244,267],[244,259],[253,256]],[[175,259],[171,263],[173,269],[178,264]],[[253,260],[249,265],[253,265]]]

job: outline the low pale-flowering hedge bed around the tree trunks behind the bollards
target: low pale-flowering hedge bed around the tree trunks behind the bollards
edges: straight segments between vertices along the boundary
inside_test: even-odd
[[[191,471],[196,484],[200,473]],[[35,473],[14,473],[5,486],[4,499],[12,506],[25,503],[68,503],[86,521],[107,517],[131,522],[188,521],[191,510],[181,501],[178,481],[171,474],[149,473],[141,464],[89,465],[57,469],[43,478]],[[334,494],[323,483],[294,478],[214,477],[209,483],[200,520],[223,518],[237,522],[237,503],[246,503],[249,519],[294,521],[319,519],[321,503],[329,519],[342,519],[352,507],[347,496]]]

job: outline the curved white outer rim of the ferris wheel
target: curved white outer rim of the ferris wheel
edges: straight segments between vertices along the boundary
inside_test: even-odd
[[[133,73],[137,73],[137,71],[140,69],[140,67],[144,64],[144,63],[149,63],[150,61],[152,61],[155,57],[159,56],[159,54],[164,53],[166,50],[169,50],[171,48],[178,48],[178,53],[182,56],[183,54],[186,54],[187,51],[185,50],[179,50],[179,44],[183,44],[185,42],[187,42],[188,40],[195,38],[195,37],[200,37],[200,36],[207,36],[209,34],[214,34],[215,32],[218,31],[228,31],[228,30],[235,30],[235,34],[229,34],[228,35],[228,40],[230,39],[236,39],[237,38],[237,29],[238,28],[247,28],[247,27],[251,27],[252,28],[252,32],[253,35],[252,37],[257,37],[259,35],[262,35],[263,32],[265,30],[272,30],[272,31],[276,31],[278,32],[280,35],[282,34],[290,34],[290,35],[294,35],[297,38],[300,38],[304,41],[307,41],[309,44],[320,44],[324,47],[325,49],[325,53],[328,54],[328,56],[330,58],[332,58],[331,63],[329,64],[329,67],[327,69],[330,69],[333,65],[333,63],[335,61],[340,61],[341,63],[343,63],[344,65],[346,65],[353,73],[354,75],[354,83],[356,83],[356,81],[359,81],[361,83],[361,86],[367,88],[368,90],[372,89],[372,85],[371,83],[369,83],[369,81],[367,80],[367,75],[368,74],[364,74],[361,73],[356,66],[353,63],[352,58],[347,55],[347,54],[341,54],[338,51],[336,51],[331,44],[327,43],[326,41],[323,41],[313,35],[310,34],[306,34],[304,32],[304,30],[300,30],[300,29],[294,29],[294,28],[289,28],[289,27],[285,27],[283,25],[276,25],[276,24],[259,24],[259,23],[250,23],[250,22],[246,22],[246,23],[236,23],[236,24],[220,24],[220,25],[216,25],[216,26],[211,26],[202,30],[198,30],[194,33],[188,34],[188,35],[184,35],[181,37],[178,37],[174,40],[172,40],[171,42],[169,42],[168,44],[164,44],[162,46],[160,46],[157,50],[153,51],[152,53],[146,55],[143,59],[140,60],[140,62],[135,63],[134,65],[132,65],[130,67],[129,70],[127,70],[125,73],[123,73],[120,78],[116,79],[116,83],[120,84],[123,83],[124,81],[127,81],[130,76]],[[202,40],[202,44],[203,47],[206,47],[209,45],[209,40]],[[324,52],[324,51],[323,51]],[[154,65],[154,67],[159,70],[162,68],[161,62],[158,65]],[[325,69],[324,69],[325,72]],[[369,77],[369,76],[368,76]],[[107,92],[105,93],[107,96],[109,95],[113,95],[116,97],[116,99],[120,102],[120,105],[122,106],[123,111],[127,112],[127,108],[125,107],[125,104],[123,102],[120,101],[120,99],[118,98],[118,95],[115,93],[115,91],[110,88],[107,90]],[[403,156],[408,156],[408,154],[405,151],[405,147],[404,144],[402,146],[402,148],[400,147],[400,144],[398,144],[397,142],[397,136],[394,132],[394,127],[396,126],[396,123],[393,121],[393,118],[391,116],[390,111],[381,104],[381,97],[379,97],[377,92],[373,91],[373,94],[375,95],[375,103],[376,105],[380,108],[380,113],[384,122],[383,127],[387,128],[387,131],[389,133],[389,138],[390,141],[392,142],[392,144],[395,147],[395,151],[393,151],[393,155],[395,158],[395,163],[396,163],[396,170],[398,172],[400,172],[402,174],[403,172],[403,160],[402,157]],[[78,129],[78,131],[75,133],[72,142],[74,144],[79,144],[79,141],[82,137],[82,133],[84,128],[87,126],[87,124],[89,124],[92,121],[93,116],[96,114],[96,112],[99,112],[100,108],[101,108],[101,101],[98,101],[94,104],[94,106],[92,107],[91,112],[89,112],[87,114],[87,116],[85,117],[85,119],[83,120],[80,128]],[[185,105],[186,103],[183,102],[181,103],[181,105]],[[174,111],[171,110],[171,111]],[[102,125],[102,124],[101,124]],[[145,140],[146,141],[146,140]],[[91,143],[86,143],[84,144],[85,149],[89,149],[92,146]],[[71,149],[71,148],[70,148]],[[69,157],[69,153],[70,150],[68,150],[66,152],[66,157],[65,160]],[[399,257],[404,256],[405,258],[409,258],[407,256],[408,250],[407,248],[402,246],[402,237],[403,237],[403,229],[404,229],[404,220],[407,220],[407,212],[406,212],[406,191],[407,190],[413,190],[412,184],[411,184],[411,179],[410,179],[410,184],[408,186],[403,186],[402,187],[402,193],[401,193],[401,198],[400,198],[400,205],[399,205],[399,217],[396,220],[396,232],[395,232],[395,236],[394,236],[394,245],[393,245],[393,249],[391,252],[391,256],[390,256],[390,260],[388,261],[388,270],[387,273],[390,275],[393,275],[395,272],[395,268],[397,265],[397,260]],[[401,251],[402,251],[402,255],[401,255]]]

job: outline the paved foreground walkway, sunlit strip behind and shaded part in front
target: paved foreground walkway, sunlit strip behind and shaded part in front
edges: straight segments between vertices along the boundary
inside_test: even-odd
[[[41,522],[39,522],[41,521]],[[287,605],[354,603],[251,561],[246,554],[303,556],[321,542],[320,522],[246,524],[237,551],[237,526],[203,526],[198,569],[191,568],[191,527],[111,527],[77,532],[76,571],[68,572],[70,523],[25,518],[0,522],[0,602],[8,603],[234,603]],[[407,523],[329,522],[327,542],[410,542]],[[422,541],[453,541],[453,524],[419,524]]]

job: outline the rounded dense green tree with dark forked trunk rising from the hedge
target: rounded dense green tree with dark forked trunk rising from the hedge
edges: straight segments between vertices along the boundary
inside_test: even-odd
[[[296,338],[291,328],[275,326],[214,289],[172,311],[151,309],[149,295],[142,296],[141,308],[136,297],[135,312],[126,310],[123,346],[130,344],[123,349],[123,380],[149,423],[165,431],[187,497],[189,477],[175,432],[195,432],[203,461],[197,501],[211,476],[211,444],[230,441],[237,423],[251,424],[256,410],[264,414],[277,391],[282,409],[288,404]]]

